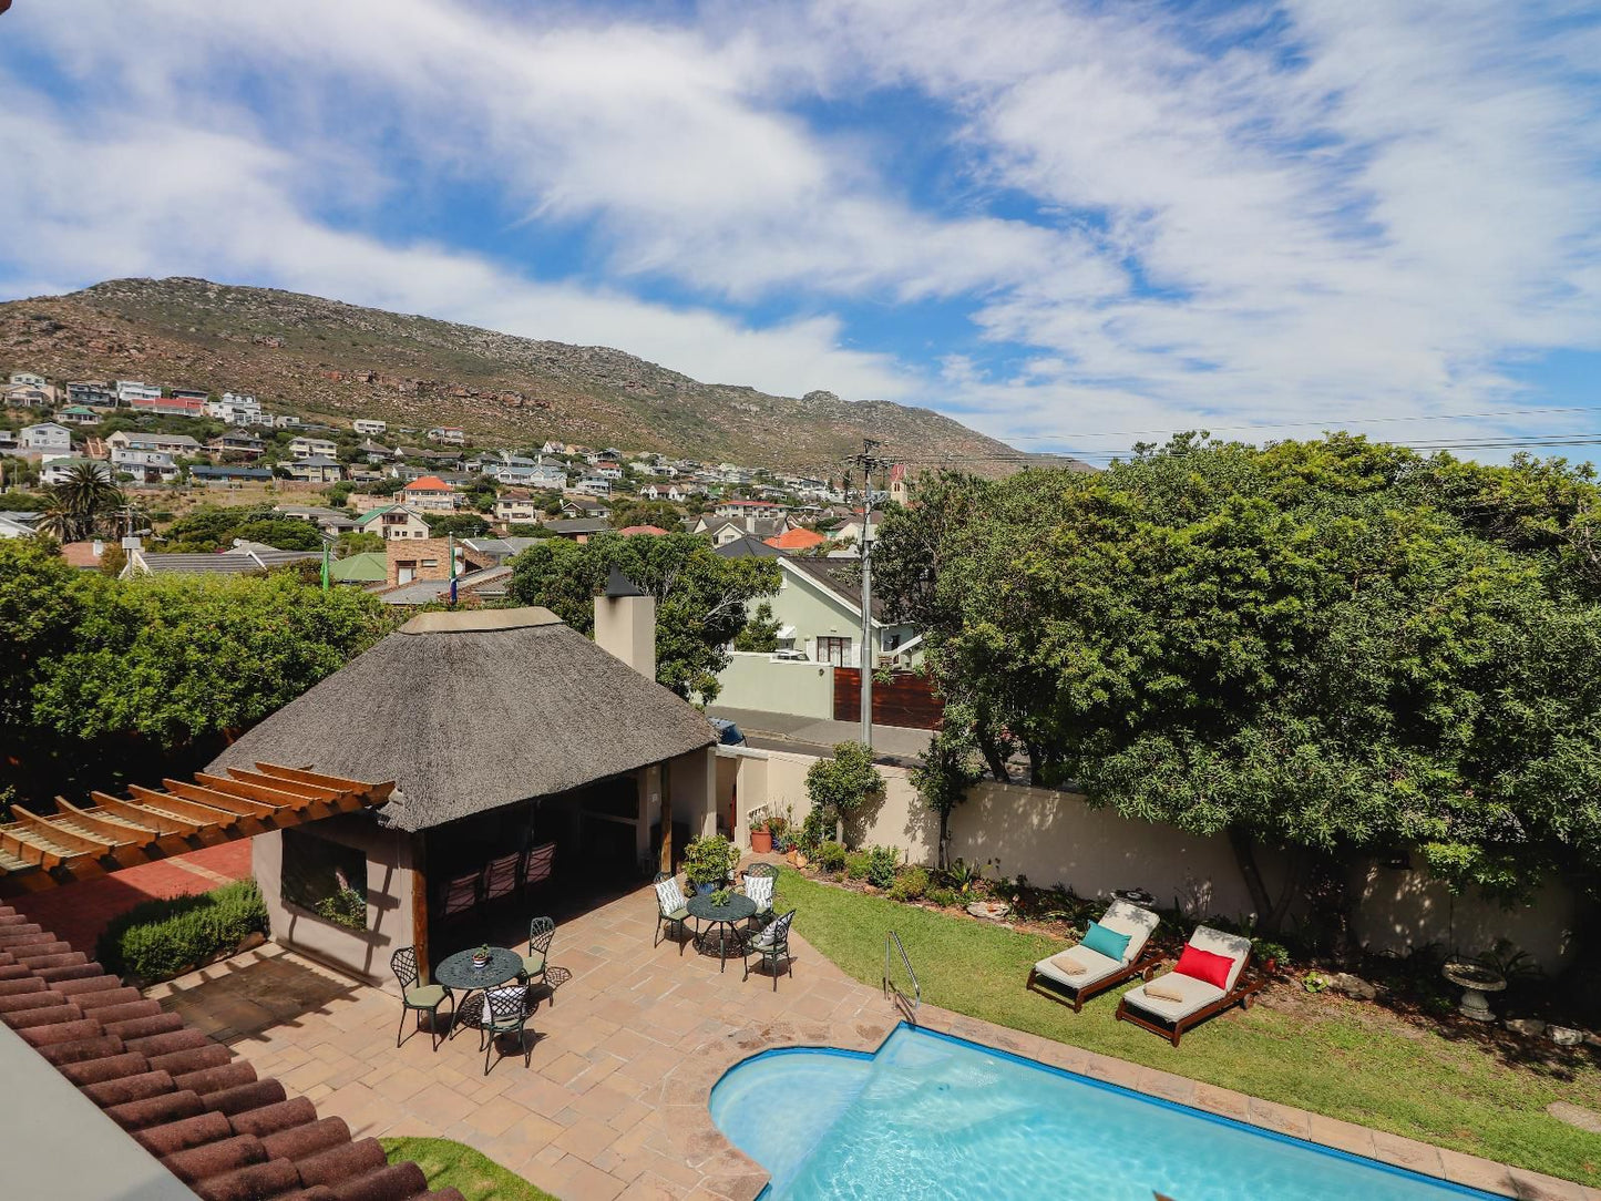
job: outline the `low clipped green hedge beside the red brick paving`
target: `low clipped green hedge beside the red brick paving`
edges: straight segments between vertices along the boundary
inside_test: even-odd
[[[362,911],[365,924],[365,906]],[[251,934],[267,932],[267,906],[253,879],[224,884],[199,897],[144,902],[114,919],[94,945],[94,958],[114,975],[147,983],[171,980]]]

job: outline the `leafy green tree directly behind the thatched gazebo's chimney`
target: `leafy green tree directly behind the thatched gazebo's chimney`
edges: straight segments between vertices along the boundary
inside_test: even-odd
[[[594,597],[613,567],[656,600],[656,681],[704,701],[717,695],[717,673],[728,666],[725,647],[744,629],[746,607],[780,583],[772,559],[725,559],[695,535],[602,535],[530,546],[512,560],[508,594],[589,634]]]

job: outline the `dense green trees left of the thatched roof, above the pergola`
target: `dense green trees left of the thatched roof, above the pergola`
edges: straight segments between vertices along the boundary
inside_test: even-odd
[[[0,541],[0,789],[48,802],[192,770],[387,626],[365,592],[288,573],[122,583],[50,540]]]

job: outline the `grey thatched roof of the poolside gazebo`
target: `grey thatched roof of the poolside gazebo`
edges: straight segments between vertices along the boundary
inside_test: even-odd
[[[426,829],[717,741],[692,705],[548,609],[421,613],[245,733],[256,761],[394,780],[386,825]]]

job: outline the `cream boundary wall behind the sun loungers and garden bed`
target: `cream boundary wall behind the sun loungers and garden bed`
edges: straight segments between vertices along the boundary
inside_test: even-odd
[[[735,837],[749,846],[749,817],[765,807],[799,821],[810,809],[805,772],[813,756],[788,751],[719,753],[719,809],[736,796]],[[730,764],[732,761],[732,764]],[[937,862],[938,817],[924,807],[908,773],[881,764],[884,802],[850,829],[855,846],[897,847],[908,863]],[[1223,836],[1186,834],[1166,825],[1130,821],[1109,809],[1092,809],[1073,793],[1023,785],[980,783],[951,813],[951,857],[969,863],[996,860],[988,874],[1028,876],[1031,884],[1065,884],[1081,897],[1143,887],[1167,906],[1196,918],[1244,919],[1250,894]],[[1258,863],[1276,892],[1286,857],[1258,850]],[[1478,894],[1452,897],[1426,873],[1366,866],[1353,873],[1353,932],[1375,951],[1404,954],[1426,943],[1476,954],[1510,938],[1547,970],[1569,954],[1572,894],[1548,884],[1532,902],[1505,908]]]

